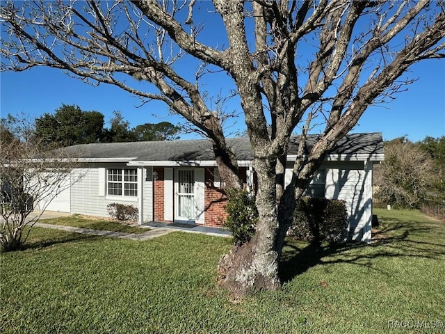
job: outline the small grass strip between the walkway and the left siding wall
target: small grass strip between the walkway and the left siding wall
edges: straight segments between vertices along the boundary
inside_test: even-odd
[[[89,228],[90,230],[104,230],[111,232],[143,233],[149,231],[148,228],[128,225],[120,221],[111,221],[101,218],[85,218],[80,215],[72,215],[61,218],[42,219],[40,223],[72,226],[74,228]]]

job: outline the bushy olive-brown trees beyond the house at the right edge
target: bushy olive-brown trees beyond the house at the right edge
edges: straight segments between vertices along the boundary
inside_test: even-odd
[[[445,215],[444,179],[445,136],[386,141],[385,161],[375,166],[375,204],[427,211],[439,206]]]

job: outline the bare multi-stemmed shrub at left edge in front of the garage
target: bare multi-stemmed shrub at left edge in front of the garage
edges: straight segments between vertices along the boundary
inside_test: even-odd
[[[31,123],[15,120],[14,132],[5,122],[0,125],[1,251],[22,248],[51,200],[81,177],[70,175],[74,159],[65,159],[60,150],[42,153],[41,146],[27,136],[32,133]]]

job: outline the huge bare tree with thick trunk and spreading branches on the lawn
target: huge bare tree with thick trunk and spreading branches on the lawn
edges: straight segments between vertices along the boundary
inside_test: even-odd
[[[254,152],[259,212],[252,240],[220,261],[221,282],[234,294],[280,286],[296,198],[327,152],[369,105],[403,90],[410,65],[444,57],[443,1],[6,1],[0,18],[9,36],[3,69],[56,67],[165,102],[210,138],[220,177],[239,189],[236,158],[201,91],[203,66],[233,79]],[[225,27],[225,39],[213,45],[201,42],[209,20]],[[188,68],[196,63],[188,77],[175,70],[185,60]],[[316,116],[325,129],[309,154],[298,154],[284,189],[277,175],[291,133],[299,125],[304,143]]]

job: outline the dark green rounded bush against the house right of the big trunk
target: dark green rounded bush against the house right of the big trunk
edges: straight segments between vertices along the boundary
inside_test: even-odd
[[[290,234],[314,244],[338,242],[343,239],[347,226],[346,202],[306,197],[297,202]]]

